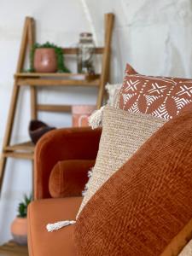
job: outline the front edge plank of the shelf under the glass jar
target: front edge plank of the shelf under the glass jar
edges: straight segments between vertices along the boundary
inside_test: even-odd
[[[100,79],[78,80],[78,79],[17,79],[20,86],[99,86]]]

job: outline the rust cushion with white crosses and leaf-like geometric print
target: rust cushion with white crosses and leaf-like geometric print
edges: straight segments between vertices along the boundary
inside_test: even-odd
[[[119,96],[119,108],[172,119],[184,110],[192,110],[192,80],[132,74],[127,64]]]

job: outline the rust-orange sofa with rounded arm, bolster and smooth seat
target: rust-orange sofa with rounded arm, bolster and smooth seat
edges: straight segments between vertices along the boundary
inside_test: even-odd
[[[73,225],[51,233],[46,224],[75,219],[101,133],[101,129],[66,128],[50,131],[39,140],[35,151],[35,200],[28,207],[27,217],[30,256],[76,255]]]

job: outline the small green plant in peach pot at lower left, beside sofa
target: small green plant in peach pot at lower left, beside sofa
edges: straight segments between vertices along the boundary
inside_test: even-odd
[[[24,200],[20,202],[18,207],[18,215],[11,224],[11,234],[14,241],[20,245],[27,244],[27,225],[26,213],[29,203],[32,201],[32,195],[24,195]]]

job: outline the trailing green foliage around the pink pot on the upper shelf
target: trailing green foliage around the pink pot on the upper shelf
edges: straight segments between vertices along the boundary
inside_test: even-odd
[[[59,73],[70,73],[70,70],[64,65],[64,55],[61,47],[56,46],[55,44],[50,44],[49,42],[45,44],[33,44],[32,49],[30,51],[30,69],[29,72],[34,72],[33,60],[35,50],[38,48],[53,48],[55,49],[55,54],[57,58],[57,68]]]

